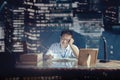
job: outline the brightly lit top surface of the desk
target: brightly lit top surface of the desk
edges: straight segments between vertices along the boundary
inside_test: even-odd
[[[16,64],[16,68],[24,69],[120,69],[120,61],[111,60],[110,62],[101,63],[99,60],[95,66],[81,66],[78,65],[76,59],[59,59],[59,60],[48,60],[37,63],[36,65],[28,64]]]

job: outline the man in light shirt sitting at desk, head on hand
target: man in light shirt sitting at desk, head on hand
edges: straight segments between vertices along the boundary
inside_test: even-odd
[[[71,30],[61,32],[60,42],[50,46],[45,59],[63,59],[63,58],[78,58],[79,49],[73,44],[73,34]]]

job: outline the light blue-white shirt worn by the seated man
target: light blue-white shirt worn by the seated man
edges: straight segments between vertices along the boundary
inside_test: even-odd
[[[74,45],[75,46],[75,45]],[[77,46],[75,46],[77,47]],[[62,59],[62,58],[75,58],[75,55],[70,47],[70,45],[67,46],[67,48],[61,48],[60,43],[54,43],[50,46],[48,52],[46,55],[52,55],[54,59]]]

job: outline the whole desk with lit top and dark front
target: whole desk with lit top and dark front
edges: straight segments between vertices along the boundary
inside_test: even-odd
[[[49,60],[37,65],[16,65],[16,76],[41,80],[115,80],[120,79],[120,61],[111,60],[108,63],[97,61],[95,66],[77,65],[75,59]]]

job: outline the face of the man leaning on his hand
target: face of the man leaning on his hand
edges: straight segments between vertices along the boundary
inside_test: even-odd
[[[62,48],[66,48],[69,44],[70,39],[72,38],[72,35],[64,34],[61,36],[60,44]]]

